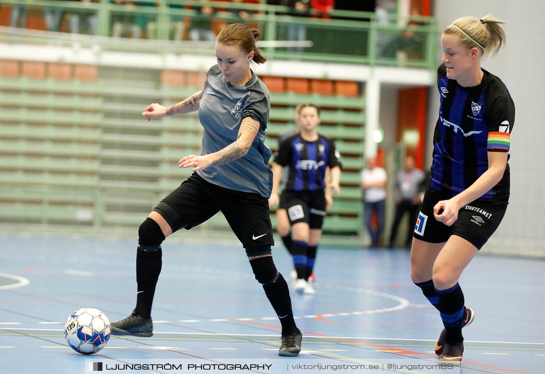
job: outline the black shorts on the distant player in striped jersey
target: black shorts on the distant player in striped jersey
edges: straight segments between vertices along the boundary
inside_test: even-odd
[[[291,225],[305,222],[310,228],[321,229],[325,218],[325,194],[318,191],[283,191],[280,209],[288,212]]]

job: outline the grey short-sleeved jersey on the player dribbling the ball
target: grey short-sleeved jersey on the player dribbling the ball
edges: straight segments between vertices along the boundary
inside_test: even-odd
[[[204,128],[201,155],[217,152],[235,142],[245,117],[251,117],[261,126],[245,156],[197,171],[199,176],[224,188],[257,192],[269,198],[272,190],[271,150],[264,143],[269,110],[269,90],[253,72],[244,86],[233,87],[227,83],[218,65],[211,67],[199,104],[199,120]]]

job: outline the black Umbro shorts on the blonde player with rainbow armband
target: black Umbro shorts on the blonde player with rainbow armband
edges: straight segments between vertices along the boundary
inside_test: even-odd
[[[423,242],[443,243],[451,235],[456,235],[481,249],[504,218],[507,203],[475,200],[459,210],[458,219],[449,227],[435,219],[433,207],[439,201],[449,200],[451,197],[450,194],[428,188],[413,236]]]

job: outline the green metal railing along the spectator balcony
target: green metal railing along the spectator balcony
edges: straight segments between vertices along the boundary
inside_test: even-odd
[[[138,3],[138,2],[135,2]],[[435,68],[437,25],[432,17],[407,17],[398,21],[397,15],[380,18],[375,13],[333,10],[330,19],[310,12],[308,17],[288,15],[289,9],[280,5],[245,4],[205,0],[160,0],[140,2],[143,5],[116,4],[112,0],[97,2],[52,0],[3,0],[13,7],[23,5],[29,11],[59,8],[63,14],[96,17],[97,35],[66,38],[66,33],[25,34],[15,30],[0,32],[0,40],[10,43],[52,43],[62,45],[78,40],[82,45],[100,45],[105,50],[136,50],[158,53],[213,53],[213,43],[194,44],[172,40],[173,28],[181,27],[187,39],[188,29],[209,24],[217,28],[227,23],[245,22],[257,27],[264,41],[287,40],[290,31],[304,29],[307,47],[267,46],[270,59],[300,59],[302,61],[338,62],[366,65]],[[156,5],[156,6],[146,6]],[[215,9],[212,16],[200,13],[195,7]],[[231,11],[229,11],[231,10]],[[233,10],[244,10],[247,19]],[[342,19],[338,19],[342,17]],[[148,40],[106,38],[112,36],[114,23],[138,25]],[[399,26],[399,23],[405,26]],[[63,30],[68,31],[68,27]],[[178,38],[180,39],[180,38]]]

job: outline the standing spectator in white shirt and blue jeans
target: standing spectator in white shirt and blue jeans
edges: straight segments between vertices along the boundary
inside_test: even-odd
[[[386,200],[386,171],[377,166],[374,157],[367,159],[367,168],[361,172],[361,188],[364,190],[365,226],[371,235],[371,246],[380,245],[384,230],[384,202]],[[377,227],[373,227],[372,215],[377,214]]]

